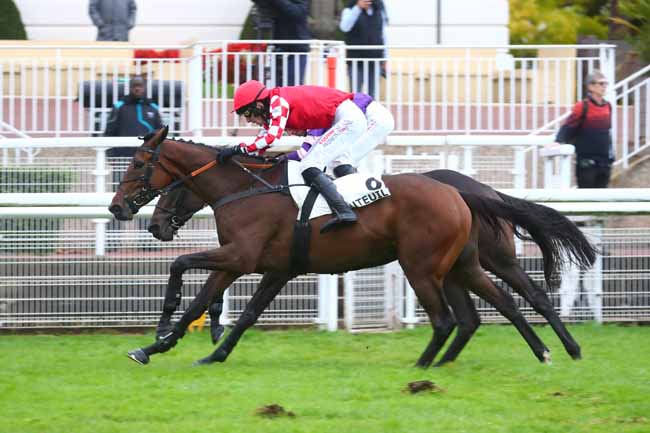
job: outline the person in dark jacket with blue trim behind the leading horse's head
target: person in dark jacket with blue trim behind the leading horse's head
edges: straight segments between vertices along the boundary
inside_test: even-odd
[[[113,105],[106,124],[107,137],[137,137],[162,128],[158,105],[145,97],[146,82],[136,75],[129,82],[129,94]],[[113,147],[109,157],[132,158],[137,147]]]

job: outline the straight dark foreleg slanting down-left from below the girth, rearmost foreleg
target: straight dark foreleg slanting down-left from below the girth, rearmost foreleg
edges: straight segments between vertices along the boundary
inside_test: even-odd
[[[244,332],[253,326],[262,312],[269,306],[282,288],[294,278],[294,275],[266,273],[260,281],[259,287],[244,312],[239,317],[235,326],[230,331],[223,343],[209,356],[196,361],[195,364],[211,364],[213,362],[224,362],[233,351]]]

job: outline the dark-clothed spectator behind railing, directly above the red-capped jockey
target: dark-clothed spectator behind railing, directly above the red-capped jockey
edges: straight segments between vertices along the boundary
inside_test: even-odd
[[[273,17],[273,39],[277,40],[308,40],[312,38],[307,17],[309,16],[310,0],[254,0],[260,13]],[[277,44],[276,83],[284,86],[297,86],[305,82],[305,69],[309,44]],[[284,57],[280,53],[290,53],[286,56],[287,81],[283,83]],[[296,77],[296,68],[298,76]]]

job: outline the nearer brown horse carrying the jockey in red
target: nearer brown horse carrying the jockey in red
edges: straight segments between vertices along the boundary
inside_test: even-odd
[[[290,264],[290,245],[297,210],[286,195],[250,189],[261,180],[252,178],[245,166],[253,166],[258,161],[241,157],[217,165],[218,150],[166,140],[166,135],[167,128],[164,128],[138,149],[109,209],[117,219],[131,219],[134,212],[157,194],[177,183],[185,183],[212,204],[222,246],[177,258],[170,268],[168,291],[178,291],[187,269],[220,272],[213,274],[214,281],[201,289],[172,332],[131,354],[142,363],[148,362],[150,355],[173,347],[189,323],[205,311],[216,292],[224,290],[239,276],[264,273],[261,284],[264,288],[274,281],[281,281],[283,286],[295,274]],[[280,184],[282,169],[283,165],[278,165],[265,173],[262,182],[267,185],[265,192],[282,190],[268,186]],[[463,286],[472,287],[494,305],[517,327],[535,356],[544,361],[547,349],[517,311],[512,298],[504,297],[484,274],[477,250],[465,248],[470,237],[478,236],[478,225],[472,224],[473,218],[481,219],[496,232],[502,230],[497,218],[514,220],[526,215],[495,200],[466,193],[461,197],[457,190],[420,175],[385,176],[383,181],[391,196],[358,209],[357,224],[318,235],[326,217],[313,220],[307,272],[341,273],[399,260],[434,328],[434,335],[417,363],[428,366],[453,328],[442,285],[452,266],[458,266],[457,269],[462,269],[458,278]],[[257,193],[247,194],[245,191],[249,190]],[[237,199],[228,200],[233,195]],[[544,230],[544,226],[539,229]],[[554,243],[551,247],[557,249],[556,257],[560,256],[560,245]],[[587,242],[575,258],[584,266],[593,262],[591,245]],[[557,272],[549,269],[548,263],[546,268],[547,272]],[[258,290],[256,302],[264,305],[269,293]],[[228,341],[203,361],[223,361],[234,347],[226,344]]]

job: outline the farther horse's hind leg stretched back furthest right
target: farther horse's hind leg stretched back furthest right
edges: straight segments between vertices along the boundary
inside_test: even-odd
[[[485,266],[523,296],[533,309],[548,321],[571,358],[580,359],[580,345],[573,339],[564,323],[562,323],[547,293],[535,284],[528,274],[521,269],[519,263],[486,263]]]

